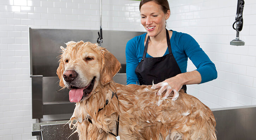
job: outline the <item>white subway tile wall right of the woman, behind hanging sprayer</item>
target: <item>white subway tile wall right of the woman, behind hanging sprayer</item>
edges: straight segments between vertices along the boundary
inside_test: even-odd
[[[188,85],[188,93],[210,108],[256,105],[256,1],[246,0],[240,38],[245,46],[231,46],[237,0],[169,0],[167,27],[193,36],[215,63],[218,78]],[[189,60],[187,71],[195,66]]]

